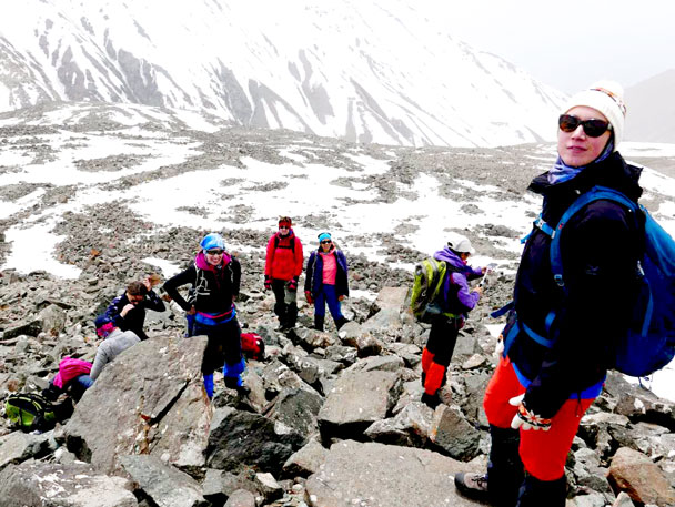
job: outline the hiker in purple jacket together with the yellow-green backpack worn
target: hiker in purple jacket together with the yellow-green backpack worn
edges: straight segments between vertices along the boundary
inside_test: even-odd
[[[451,241],[415,267],[411,306],[417,320],[431,323],[422,351],[422,403],[432,408],[441,403],[439,389],[447,381],[447,368],[466,314],[483,294],[482,286],[472,288],[467,283],[484,276],[487,270],[466,264],[473,252],[469,240]]]

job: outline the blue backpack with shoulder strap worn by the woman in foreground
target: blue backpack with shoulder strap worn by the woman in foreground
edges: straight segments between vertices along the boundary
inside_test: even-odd
[[[555,283],[565,291],[561,257],[561,231],[586,204],[597,200],[617,202],[645,219],[645,251],[639,261],[639,291],[628,329],[617,343],[614,369],[642,377],[667,365],[675,356],[675,241],[649,215],[623,193],[594,186],[581,195],[552,229],[538,220],[535,225],[551,236],[551,268]]]

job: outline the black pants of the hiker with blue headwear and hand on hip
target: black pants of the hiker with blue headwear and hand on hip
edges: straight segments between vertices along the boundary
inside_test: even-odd
[[[241,327],[236,317],[224,324],[206,326],[194,323],[195,335],[206,335],[206,348],[202,361],[202,374],[211,375],[224,363],[236,364],[241,361]]]

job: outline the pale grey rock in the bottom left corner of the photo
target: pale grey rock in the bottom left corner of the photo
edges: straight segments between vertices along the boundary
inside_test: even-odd
[[[27,462],[0,473],[2,507],[135,507],[132,485],[90,465]]]

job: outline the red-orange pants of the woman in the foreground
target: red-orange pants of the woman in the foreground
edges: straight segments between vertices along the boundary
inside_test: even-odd
[[[483,400],[491,425],[510,428],[517,407],[508,404],[514,396],[525,393],[508,358],[500,359]],[[567,399],[551,419],[547,432],[522,429],[518,454],[525,470],[538,480],[556,480],[565,474],[567,453],[576,435],[582,416],[595,398]]]

